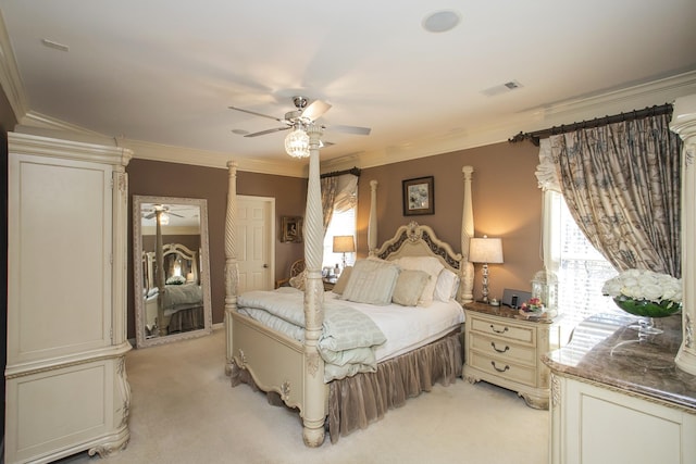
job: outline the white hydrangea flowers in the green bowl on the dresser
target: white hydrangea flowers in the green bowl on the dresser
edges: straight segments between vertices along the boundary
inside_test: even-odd
[[[652,271],[629,269],[607,280],[601,287],[601,293],[612,298],[623,296],[658,304],[662,301],[681,303],[682,280]]]

